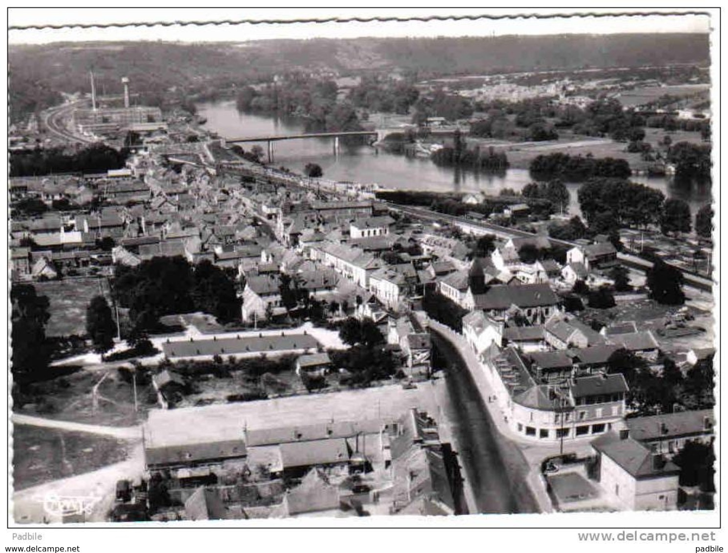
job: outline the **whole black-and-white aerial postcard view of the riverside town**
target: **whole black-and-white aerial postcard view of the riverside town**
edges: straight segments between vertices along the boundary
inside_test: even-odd
[[[716,511],[691,21],[14,31],[9,524]]]

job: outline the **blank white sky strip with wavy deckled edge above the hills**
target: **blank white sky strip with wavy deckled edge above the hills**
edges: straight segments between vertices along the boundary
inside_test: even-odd
[[[282,19],[296,17],[373,17],[427,15],[506,15],[533,13],[535,9],[486,8],[9,8],[8,26],[68,23],[132,23],[179,20]],[[576,8],[539,9],[539,13],[568,13]],[[595,9],[608,12],[608,9]],[[612,10],[614,11],[614,10]],[[669,11],[619,9],[620,12]],[[676,11],[689,11],[679,9]],[[700,10],[705,11],[705,10]],[[502,34],[612,34],[656,32],[708,32],[705,15],[649,17],[559,17],[548,20],[461,20],[392,23],[288,23],[223,26],[125,27],[9,31],[10,44],[45,44],[61,41],[162,40],[182,42],[247,41],[260,39],[355,38],[358,36],[488,36]]]

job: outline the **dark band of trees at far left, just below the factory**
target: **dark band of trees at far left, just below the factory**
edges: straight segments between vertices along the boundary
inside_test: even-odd
[[[78,152],[63,148],[34,149],[10,155],[10,176],[41,176],[50,173],[106,173],[124,167],[127,152],[105,144],[92,144]]]

